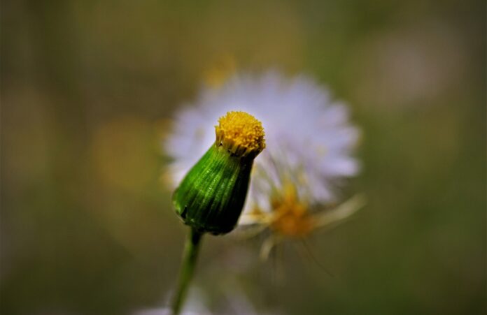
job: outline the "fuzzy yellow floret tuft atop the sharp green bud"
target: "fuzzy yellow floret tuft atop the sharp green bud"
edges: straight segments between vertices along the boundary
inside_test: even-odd
[[[257,156],[265,147],[264,128],[246,112],[227,112],[215,126],[216,144],[237,156]]]

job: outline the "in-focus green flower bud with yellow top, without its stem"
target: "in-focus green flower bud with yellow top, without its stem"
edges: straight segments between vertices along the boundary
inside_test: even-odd
[[[216,141],[174,191],[176,214],[200,233],[229,233],[244,207],[253,160],[265,147],[262,124],[246,112],[227,112]]]

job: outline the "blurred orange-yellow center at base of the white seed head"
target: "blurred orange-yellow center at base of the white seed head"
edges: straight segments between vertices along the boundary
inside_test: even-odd
[[[276,233],[301,237],[316,227],[316,220],[309,214],[308,205],[299,200],[292,183],[285,185],[283,196],[271,199],[271,207],[274,220],[269,227]]]

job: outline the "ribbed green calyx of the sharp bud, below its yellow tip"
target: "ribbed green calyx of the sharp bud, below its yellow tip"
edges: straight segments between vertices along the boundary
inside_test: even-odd
[[[174,207],[184,223],[201,233],[233,230],[244,207],[253,157],[212,145],[174,191]]]

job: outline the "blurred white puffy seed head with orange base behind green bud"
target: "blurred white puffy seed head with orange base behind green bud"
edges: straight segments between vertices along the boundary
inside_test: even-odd
[[[352,156],[359,133],[348,108],[311,78],[288,79],[275,72],[234,75],[218,88],[205,87],[195,104],[178,113],[164,142],[174,186],[214,141],[207,122],[230,110],[260,119],[267,135],[239,224],[302,237],[358,209],[358,198],[336,206],[337,186],[359,170]]]

